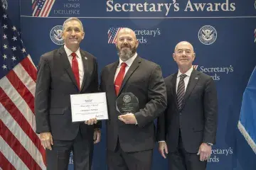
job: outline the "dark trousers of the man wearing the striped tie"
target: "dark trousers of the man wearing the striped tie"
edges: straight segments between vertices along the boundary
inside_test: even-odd
[[[180,132],[176,151],[168,154],[168,164],[170,170],[206,170],[207,161],[201,162],[197,153],[186,152]]]

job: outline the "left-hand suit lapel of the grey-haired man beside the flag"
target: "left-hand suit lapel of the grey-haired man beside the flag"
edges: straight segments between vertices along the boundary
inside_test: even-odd
[[[78,87],[78,84],[75,81],[75,76],[74,76],[73,71],[72,71],[71,66],[70,66],[70,62],[68,61],[68,56],[67,56],[63,46],[60,47],[59,54],[60,54],[60,56],[59,56],[60,57],[60,62],[61,61],[63,62],[65,70],[66,70],[66,72],[68,72],[68,75],[69,75],[70,79],[73,81],[73,84],[75,84],[75,86]]]

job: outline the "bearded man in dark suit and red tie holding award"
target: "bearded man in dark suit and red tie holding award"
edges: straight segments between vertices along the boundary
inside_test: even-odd
[[[161,68],[137,55],[138,40],[133,30],[117,35],[119,60],[101,74],[100,89],[107,94],[107,165],[110,170],[151,169],[155,143],[154,119],[166,108],[166,87]],[[117,111],[116,100],[124,93],[137,96],[134,113]],[[129,101],[129,97],[121,101]],[[118,104],[117,104],[118,105]]]

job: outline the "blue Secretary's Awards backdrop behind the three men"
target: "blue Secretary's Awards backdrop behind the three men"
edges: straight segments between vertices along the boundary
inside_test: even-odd
[[[6,0],[2,0],[6,1]],[[213,77],[218,89],[218,134],[209,170],[250,170],[256,156],[238,131],[242,93],[256,64],[256,1],[238,0],[9,0],[8,12],[33,62],[58,48],[63,21],[75,16],[85,29],[81,43],[97,57],[99,74],[118,59],[113,37],[118,28],[132,28],[140,56],[158,63],[164,77],[177,71],[172,59],[176,43],[194,46],[194,67]],[[112,36],[112,38],[111,38]],[[93,168],[106,169],[105,123],[102,141],[95,145]],[[167,169],[155,149],[153,169]],[[70,157],[70,167],[73,159]]]

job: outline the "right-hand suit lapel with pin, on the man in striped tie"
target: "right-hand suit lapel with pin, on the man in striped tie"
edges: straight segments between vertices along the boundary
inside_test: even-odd
[[[193,89],[195,88],[198,80],[200,79],[199,74],[200,72],[196,71],[195,69],[193,69],[192,73],[191,73],[191,77],[188,81],[188,86],[186,88],[186,92],[184,95],[184,99],[183,99],[183,103],[181,106],[181,110],[183,109],[183,107],[186,104],[186,101],[188,100],[188,97],[190,96],[191,92],[193,91]]]

